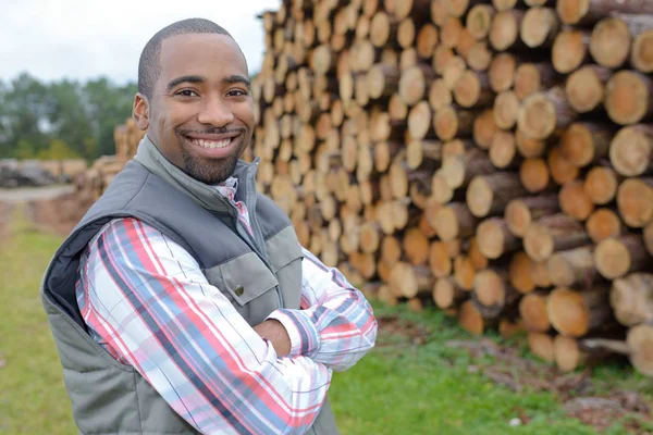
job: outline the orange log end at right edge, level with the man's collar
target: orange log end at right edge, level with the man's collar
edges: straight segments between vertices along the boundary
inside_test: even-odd
[[[617,207],[628,226],[641,228],[653,221],[653,178],[628,178],[621,183]]]

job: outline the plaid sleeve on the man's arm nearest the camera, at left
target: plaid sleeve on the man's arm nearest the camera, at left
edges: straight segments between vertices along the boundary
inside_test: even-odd
[[[108,224],[84,253],[77,299],[91,334],[204,434],[299,434],[331,369],[278,358],[195,259],[134,219]]]

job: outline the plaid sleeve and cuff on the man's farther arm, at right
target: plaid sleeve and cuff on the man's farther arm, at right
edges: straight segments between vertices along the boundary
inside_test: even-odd
[[[288,332],[291,356],[347,370],[374,347],[378,324],[372,308],[337,269],[303,250],[301,310],[275,310],[269,319]]]

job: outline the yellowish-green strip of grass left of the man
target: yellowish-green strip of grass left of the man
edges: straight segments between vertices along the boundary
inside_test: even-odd
[[[16,210],[20,213],[20,210]],[[0,247],[0,433],[75,434],[62,369],[39,298],[60,237],[22,220]]]

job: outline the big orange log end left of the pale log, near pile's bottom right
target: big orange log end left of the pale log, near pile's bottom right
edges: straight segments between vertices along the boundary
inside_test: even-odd
[[[612,316],[608,294],[608,288],[604,287],[582,293],[557,287],[546,299],[551,325],[568,337],[582,337],[604,326]]]

